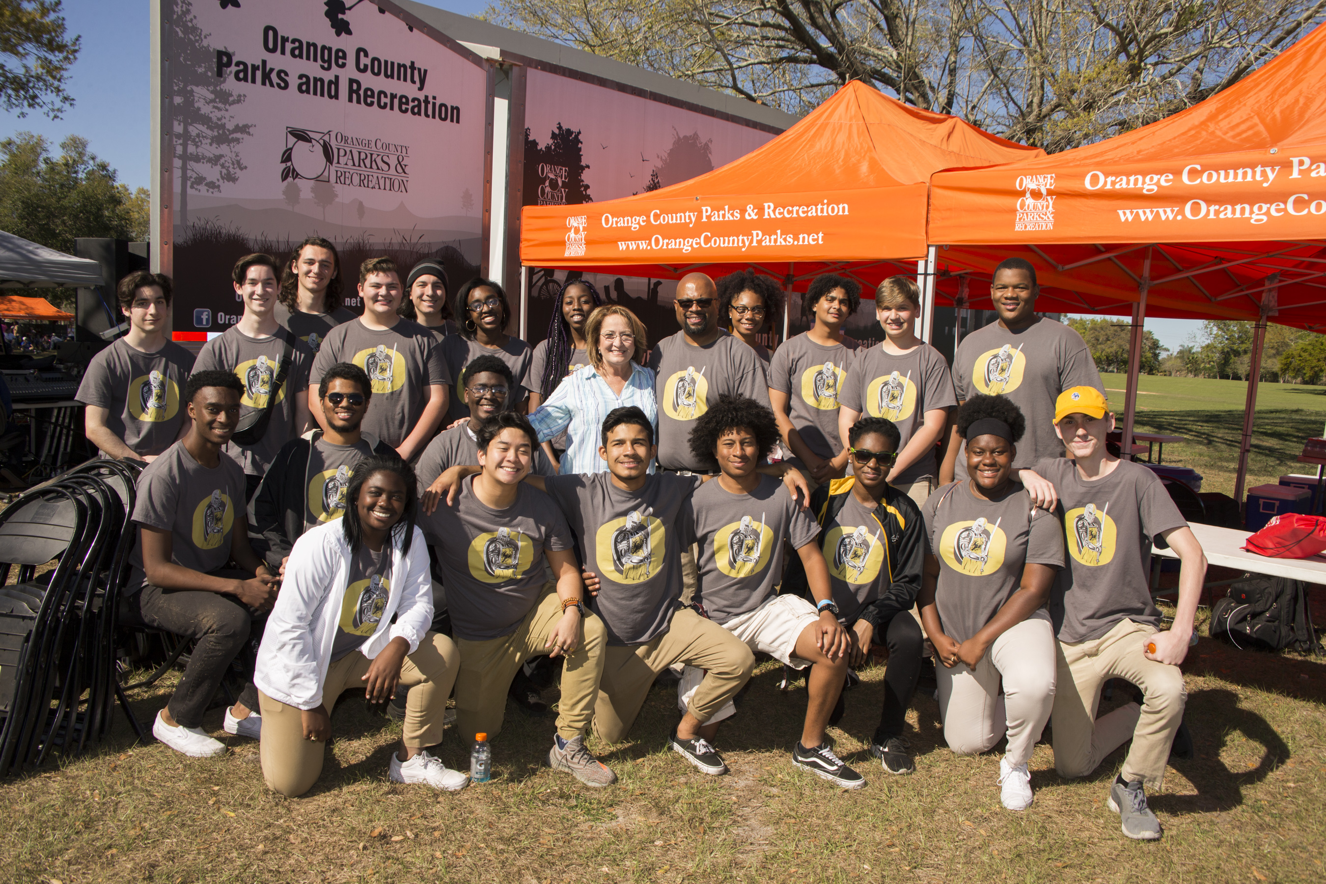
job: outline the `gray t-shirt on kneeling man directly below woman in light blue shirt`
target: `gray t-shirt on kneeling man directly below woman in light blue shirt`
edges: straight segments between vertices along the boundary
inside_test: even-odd
[[[611,473],[544,481],[579,538],[585,569],[599,578],[590,607],[603,618],[607,643],[643,644],[667,632],[682,599],[686,502],[700,478],[651,473],[636,492],[614,485]]]

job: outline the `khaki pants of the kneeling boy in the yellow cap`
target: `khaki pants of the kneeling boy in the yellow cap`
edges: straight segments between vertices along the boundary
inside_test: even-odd
[[[1131,740],[1119,773],[1128,782],[1142,779],[1160,789],[1188,693],[1179,667],[1146,659],[1147,639],[1154,634],[1150,626],[1123,619],[1099,639],[1057,643],[1053,742],[1054,767],[1061,777],[1086,777]],[[1142,688],[1143,704],[1130,702],[1097,718],[1101,687],[1107,679],[1124,679]]]

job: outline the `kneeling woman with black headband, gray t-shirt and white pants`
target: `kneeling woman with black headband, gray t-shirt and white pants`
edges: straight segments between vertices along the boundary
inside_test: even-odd
[[[1045,603],[1063,567],[1063,527],[1013,480],[1026,429],[1004,396],[972,396],[957,410],[971,478],[926,501],[920,606],[936,668],[944,740],[960,755],[994,746],[1004,807],[1032,806],[1026,762],[1054,704],[1054,631]],[[1002,692],[1000,683],[1002,681]]]

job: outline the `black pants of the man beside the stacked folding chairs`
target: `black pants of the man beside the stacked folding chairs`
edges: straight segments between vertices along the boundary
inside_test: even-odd
[[[244,571],[221,569],[211,577],[247,579]],[[188,655],[184,675],[166,708],[175,724],[200,728],[207,704],[220,687],[227,667],[248,641],[252,614],[233,595],[199,590],[163,590],[146,584],[119,600],[119,620],[125,626],[149,626],[172,635],[198,639]],[[257,712],[257,688],[249,681],[240,702]]]

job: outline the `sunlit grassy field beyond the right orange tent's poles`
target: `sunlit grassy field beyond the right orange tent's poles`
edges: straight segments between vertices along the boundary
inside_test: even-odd
[[[1127,376],[1103,374],[1101,379],[1122,425]],[[1143,375],[1138,384],[1136,429],[1184,436],[1185,443],[1164,447],[1164,463],[1201,473],[1204,492],[1232,496],[1246,396],[1248,384],[1242,380]],[[1315,467],[1296,459],[1306,439],[1322,435],[1323,424],[1326,387],[1258,384],[1246,488],[1276,484],[1289,473],[1315,473]]]

